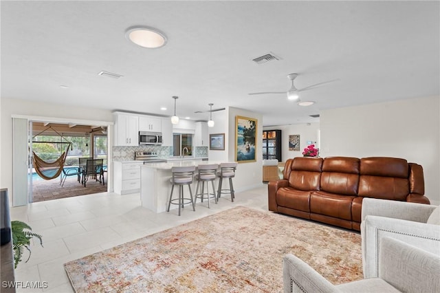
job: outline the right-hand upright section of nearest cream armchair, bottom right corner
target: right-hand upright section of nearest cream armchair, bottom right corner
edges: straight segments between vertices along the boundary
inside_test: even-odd
[[[402,265],[403,264],[403,265]],[[439,292],[440,256],[384,237],[380,245],[380,278],[401,292]]]

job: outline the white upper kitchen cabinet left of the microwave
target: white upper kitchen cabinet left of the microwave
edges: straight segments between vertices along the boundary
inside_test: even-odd
[[[115,112],[115,146],[139,145],[139,118],[130,113]]]

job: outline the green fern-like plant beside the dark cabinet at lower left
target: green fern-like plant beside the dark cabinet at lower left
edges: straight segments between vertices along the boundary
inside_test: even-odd
[[[41,235],[31,232],[32,228],[23,221],[11,221],[11,230],[12,249],[14,250],[14,268],[17,268],[25,248],[29,251],[29,257],[25,262],[28,262],[30,259],[30,254],[32,253],[29,247],[30,239],[33,237],[38,238],[42,247],[43,239],[41,239]]]

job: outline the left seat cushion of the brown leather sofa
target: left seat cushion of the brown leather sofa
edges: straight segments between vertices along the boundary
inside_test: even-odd
[[[276,193],[276,204],[285,208],[293,208],[310,212],[310,192],[297,191],[293,188],[282,187]]]

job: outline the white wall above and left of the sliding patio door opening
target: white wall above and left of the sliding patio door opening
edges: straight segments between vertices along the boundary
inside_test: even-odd
[[[12,115],[56,117],[72,119],[72,121],[113,121],[112,113],[108,110],[1,98],[0,186],[8,188],[10,201],[14,196],[12,190]]]

